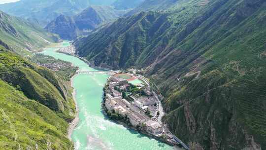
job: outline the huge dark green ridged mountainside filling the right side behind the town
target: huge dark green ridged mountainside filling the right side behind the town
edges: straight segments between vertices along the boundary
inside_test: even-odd
[[[182,0],[76,41],[96,66],[146,68],[192,150],[266,149],[266,1]]]

